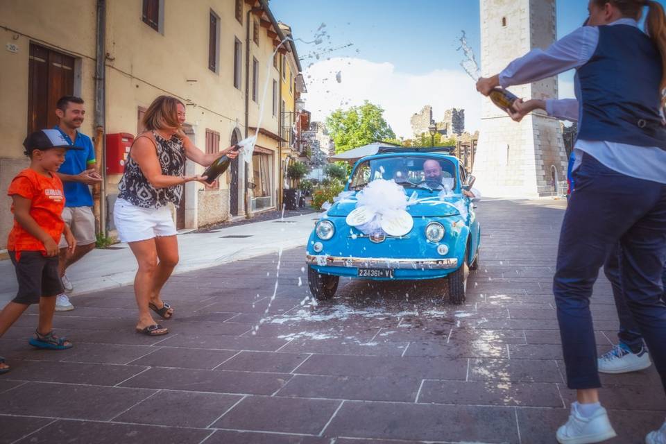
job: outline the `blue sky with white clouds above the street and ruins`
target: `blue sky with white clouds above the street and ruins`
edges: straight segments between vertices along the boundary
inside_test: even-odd
[[[660,3],[665,4],[666,0],[660,0]],[[323,118],[324,114],[338,105],[345,108],[364,99],[361,96],[368,85],[365,85],[365,89],[354,85],[355,78],[345,77],[345,67],[356,76],[363,76],[359,73],[366,71],[368,75],[374,72],[374,75],[381,76],[382,70],[377,67],[384,67],[397,79],[395,81],[420,84],[428,80],[432,82],[429,89],[421,88],[413,94],[421,96],[422,105],[434,102],[431,104],[434,107],[435,119],[441,118],[437,114],[443,114],[442,107],[462,107],[466,108],[468,114],[468,127],[472,126],[469,129],[477,129],[475,126],[478,126],[479,98],[469,94],[468,99],[452,98],[451,101],[455,103],[448,104],[441,97],[442,94],[438,94],[441,89],[436,81],[438,78],[452,79],[454,77],[451,76],[462,73],[459,66],[461,53],[456,51],[456,48],[459,46],[458,37],[463,29],[477,53],[478,60],[478,0],[271,0],[270,5],[275,17],[289,24],[293,35],[303,40],[313,40],[321,24],[326,25],[323,30],[327,31],[330,38],[325,36],[322,44],[296,43],[301,58],[314,53],[319,56],[318,59],[311,57],[301,61],[306,72],[310,71],[310,78],[306,79],[310,94],[306,99],[318,108],[312,110],[314,117]],[[586,16],[586,1],[558,0],[558,35],[565,35],[580,26]],[[353,45],[348,48],[336,49],[350,43]],[[328,49],[334,50],[328,52]],[[310,66],[311,64],[314,65]],[[363,65],[366,71],[359,71],[357,64]],[[331,80],[338,70],[342,71],[345,79],[341,85],[336,85]],[[563,92],[570,92],[565,84],[570,83],[571,78],[571,74],[561,77]],[[462,81],[459,80],[458,83]],[[471,83],[465,85],[470,86]],[[334,94],[332,90],[336,87],[337,94]],[[392,87],[390,83],[386,83],[383,87],[395,89],[400,85]],[[428,97],[428,91],[432,100]],[[327,94],[330,95],[325,101],[327,105],[322,105],[322,96]],[[453,92],[450,94],[452,97],[455,95]],[[366,98],[382,101],[379,92],[368,92]],[[420,109],[418,106],[417,109],[410,109],[409,113],[404,110],[402,113],[398,110],[388,112],[388,108],[395,104],[380,104],[387,110],[387,114],[391,114],[391,119],[387,120],[396,133],[405,133],[409,129],[409,122],[406,123],[405,119],[408,121],[409,115]],[[416,107],[417,103],[410,103],[409,106]]]

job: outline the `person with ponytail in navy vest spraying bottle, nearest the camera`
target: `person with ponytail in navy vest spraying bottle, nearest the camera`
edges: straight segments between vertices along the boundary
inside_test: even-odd
[[[646,31],[638,28],[648,7]],[[575,189],[565,212],[553,280],[567,386],[577,391],[559,443],[616,436],[599,403],[590,297],[599,268],[619,243],[622,291],[666,388],[666,16],[653,0],[590,0],[588,26],[533,49],[477,89],[532,83],[576,69],[576,100],[546,101],[549,114],[578,108]],[[527,105],[527,102],[524,104]],[[533,109],[538,108],[536,105]],[[554,107],[559,108],[555,109]],[[518,103],[520,108],[520,103]],[[522,112],[526,112],[525,106]],[[569,110],[569,114],[573,111]],[[647,434],[666,443],[666,422]]]

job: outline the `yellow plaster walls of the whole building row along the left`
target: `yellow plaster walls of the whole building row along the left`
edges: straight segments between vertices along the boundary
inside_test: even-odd
[[[278,116],[272,115],[272,82],[278,80],[273,67],[272,40],[259,28],[259,46],[252,40],[248,6],[243,2],[243,24],[234,14],[234,0],[164,0],[164,22],[160,32],[142,22],[142,1],[106,2],[105,130],[111,133],[137,133],[138,108],[161,94],[178,97],[186,103],[187,123],[194,130],[194,143],[205,150],[206,129],[220,134],[220,148],[229,146],[234,129],[242,137],[245,128],[246,79],[250,81],[249,126],[257,126],[259,102],[268,78],[262,128],[278,134]],[[219,17],[219,59],[217,72],[208,68],[210,11]],[[62,24],[67,26],[62,26]],[[246,26],[250,24],[250,73],[246,76]],[[28,56],[31,41],[70,56],[76,62],[74,94],[86,102],[87,116],[82,132],[92,135],[94,124],[94,70],[96,44],[96,1],[94,0],[2,0],[0,36],[17,45],[16,53],[0,51],[0,187],[23,167],[22,142],[26,137],[28,99]],[[233,85],[234,39],[241,42],[241,87]],[[252,58],[259,61],[257,103],[251,99]],[[289,74],[287,74],[289,79]],[[280,81],[280,80],[279,80]],[[287,87],[288,91],[288,87]],[[287,102],[292,102],[287,100]],[[279,105],[278,105],[279,110]],[[262,146],[277,150],[278,142],[268,138]],[[273,186],[278,186],[278,154],[274,156]],[[188,162],[187,173],[202,173],[203,167]],[[229,175],[221,178],[220,191],[203,191],[203,185],[190,182],[185,189],[185,225],[198,226],[226,219],[229,214]],[[117,192],[120,175],[109,176],[107,193]],[[251,180],[251,178],[250,178]],[[242,188],[244,180],[239,180]],[[202,193],[205,205],[197,205]],[[242,191],[241,191],[242,193]],[[241,194],[240,193],[240,194]],[[219,199],[216,202],[216,199]],[[202,202],[204,203],[204,202]],[[239,196],[243,209],[244,197]],[[8,208],[3,194],[0,205]],[[241,211],[242,214],[242,211]],[[0,248],[12,223],[8,212],[0,214]]]

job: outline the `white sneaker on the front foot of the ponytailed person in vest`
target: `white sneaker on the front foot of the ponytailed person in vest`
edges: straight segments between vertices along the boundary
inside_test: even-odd
[[[555,436],[558,443],[601,443],[601,441],[606,441],[616,436],[604,407],[599,407],[595,413],[592,413],[592,416],[585,418],[576,409],[577,404],[577,402],[571,404],[569,420],[565,425],[557,429]]]

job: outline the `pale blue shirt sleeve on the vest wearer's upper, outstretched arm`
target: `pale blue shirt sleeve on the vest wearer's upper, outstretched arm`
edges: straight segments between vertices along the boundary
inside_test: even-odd
[[[513,60],[499,73],[499,85],[524,85],[581,67],[592,58],[597,44],[599,28],[582,26],[545,50],[533,49]]]

